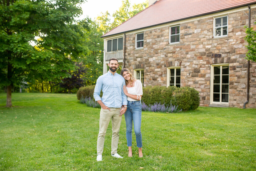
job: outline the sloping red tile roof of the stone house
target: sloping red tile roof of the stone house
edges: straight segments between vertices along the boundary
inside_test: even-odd
[[[102,37],[215,13],[252,3],[256,3],[256,0],[159,0]]]

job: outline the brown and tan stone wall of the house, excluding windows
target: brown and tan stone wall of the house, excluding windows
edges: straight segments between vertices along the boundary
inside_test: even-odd
[[[255,21],[256,9],[251,18]],[[126,67],[144,68],[144,86],[166,86],[167,67],[181,67],[181,87],[194,87],[200,106],[210,104],[210,66],[229,63],[229,106],[243,107],[247,99],[247,43],[244,26],[248,9],[228,14],[228,37],[213,38],[213,17],[180,24],[180,43],[169,44],[169,27],[144,31],[144,48],[135,49],[135,34],[126,35]],[[172,26],[170,24],[170,26]],[[251,21],[251,27],[256,29]],[[256,63],[250,62],[250,101],[255,108]]]

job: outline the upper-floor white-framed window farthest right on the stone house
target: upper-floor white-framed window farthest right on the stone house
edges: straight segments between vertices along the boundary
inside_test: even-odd
[[[214,37],[228,36],[228,16],[214,18]]]

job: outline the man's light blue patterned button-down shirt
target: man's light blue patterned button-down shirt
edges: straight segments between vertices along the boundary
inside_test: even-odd
[[[95,101],[101,100],[109,108],[121,108],[122,105],[127,105],[123,85],[125,85],[125,80],[120,74],[114,73],[113,75],[108,71],[97,79],[93,97]],[[101,90],[102,98],[100,98]]]

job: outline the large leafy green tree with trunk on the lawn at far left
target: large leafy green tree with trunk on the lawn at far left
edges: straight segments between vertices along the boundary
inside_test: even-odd
[[[76,23],[84,0],[0,1],[0,84],[11,88],[22,79],[50,81],[68,77],[84,46],[88,21]]]

